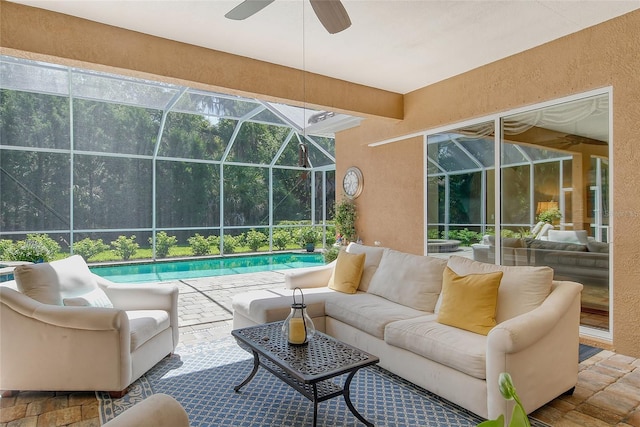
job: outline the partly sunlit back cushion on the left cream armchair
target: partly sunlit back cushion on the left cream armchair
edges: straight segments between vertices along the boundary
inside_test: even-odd
[[[18,290],[43,304],[62,305],[98,287],[80,255],[41,264],[19,265],[13,270]]]

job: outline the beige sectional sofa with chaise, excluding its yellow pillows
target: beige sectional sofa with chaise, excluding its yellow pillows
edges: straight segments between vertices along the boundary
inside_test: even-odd
[[[381,367],[482,417],[511,413],[498,390],[501,372],[512,375],[527,412],[575,386],[582,285],[553,281],[548,267],[444,260],[353,243],[346,251],[366,254],[355,294],[328,287],[336,261],[291,272],[286,289],[236,296],[234,327],[283,320],[291,289],[300,287],[317,329],[377,355]],[[459,276],[503,272],[497,325],[487,335],[439,321],[446,267]]]

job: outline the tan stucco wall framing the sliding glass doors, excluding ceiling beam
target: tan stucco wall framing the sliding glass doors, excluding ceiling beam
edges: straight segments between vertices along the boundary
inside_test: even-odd
[[[640,12],[407,94],[402,122],[366,120],[338,135],[337,176],[352,164],[365,175],[368,188],[358,199],[365,242],[372,236],[420,252],[424,239],[420,144],[416,138],[366,144],[607,86],[613,87],[613,346],[640,357]]]

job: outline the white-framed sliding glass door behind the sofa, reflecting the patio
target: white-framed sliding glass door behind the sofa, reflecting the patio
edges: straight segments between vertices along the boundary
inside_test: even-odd
[[[608,331],[609,111],[603,92],[428,134],[426,252],[549,266]]]

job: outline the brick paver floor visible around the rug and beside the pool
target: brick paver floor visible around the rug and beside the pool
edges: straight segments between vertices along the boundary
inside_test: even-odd
[[[265,272],[183,280],[180,287],[180,344],[228,336],[233,295],[283,286],[283,273]],[[592,342],[586,342],[593,345]],[[580,364],[578,384],[532,414],[558,427],[640,427],[640,359],[604,350]],[[95,393],[20,392],[0,398],[0,427],[97,427]]]

